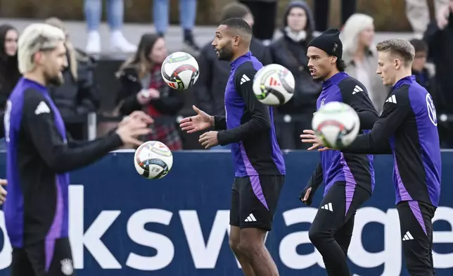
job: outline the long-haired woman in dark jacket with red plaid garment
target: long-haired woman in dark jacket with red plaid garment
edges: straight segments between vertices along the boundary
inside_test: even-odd
[[[182,143],[173,116],[184,106],[184,94],[171,89],[162,79],[160,68],[166,57],[162,37],[143,35],[135,56],[117,73],[121,83],[117,104],[122,115],[138,110],[151,115],[153,132],[147,139],[160,141],[175,151],[182,149]]]

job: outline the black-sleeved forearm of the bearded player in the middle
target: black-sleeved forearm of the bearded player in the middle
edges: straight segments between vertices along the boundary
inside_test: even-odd
[[[219,141],[220,145],[224,146],[227,144],[243,141],[247,137],[250,137],[257,132],[269,130],[270,127],[270,124],[265,120],[252,118],[247,123],[239,127],[217,133],[217,140]]]

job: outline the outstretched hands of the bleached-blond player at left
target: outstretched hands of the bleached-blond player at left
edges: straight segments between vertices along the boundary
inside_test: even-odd
[[[149,134],[151,129],[148,128],[148,123],[143,122],[139,118],[128,118],[118,126],[116,133],[121,138],[125,145],[140,146],[143,144],[137,137]]]

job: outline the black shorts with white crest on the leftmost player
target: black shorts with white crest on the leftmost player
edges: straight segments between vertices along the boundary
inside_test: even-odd
[[[13,249],[11,276],[73,275],[75,272],[68,238]]]

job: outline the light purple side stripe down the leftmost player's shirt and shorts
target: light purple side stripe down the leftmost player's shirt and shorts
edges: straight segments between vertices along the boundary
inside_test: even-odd
[[[61,236],[61,227],[63,223],[63,195],[61,193],[60,183],[56,177],[56,207],[55,215],[49,232],[46,235],[45,256],[46,256],[46,271],[49,271],[51,266],[53,251],[55,249],[56,239]]]

